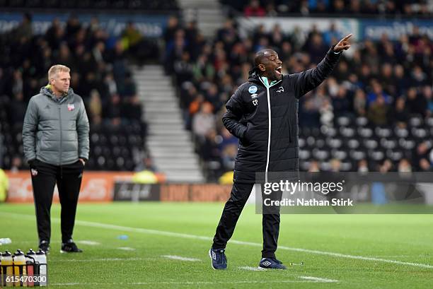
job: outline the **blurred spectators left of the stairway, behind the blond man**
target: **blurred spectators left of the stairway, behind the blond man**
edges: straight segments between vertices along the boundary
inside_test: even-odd
[[[93,140],[100,140],[98,132],[116,134],[125,131],[125,126],[135,127],[134,132],[144,137],[142,105],[127,65],[134,44],[139,43],[134,29],[130,23],[122,36],[116,38],[99,27],[97,18],[84,25],[71,16],[65,25],[54,19],[45,34],[35,35],[32,16],[26,13],[16,28],[0,35],[0,132],[6,138],[4,167],[26,165],[21,142],[26,105],[32,95],[47,85],[47,71],[54,64],[71,69],[71,88],[85,102]],[[103,168],[110,159],[110,151],[99,149],[106,152],[105,158],[96,155],[89,160],[90,168]],[[94,152],[92,148],[91,154]],[[107,169],[134,168],[130,153],[123,151],[117,156],[121,157],[119,161]]]

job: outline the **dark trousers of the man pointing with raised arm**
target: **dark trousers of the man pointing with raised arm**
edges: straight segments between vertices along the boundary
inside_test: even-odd
[[[233,235],[243,206],[245,206],[254,184],[235,182],[231,189],[230,199],[226,202],[221,219],[214,236],[214,249],[224,249]],[[275,258],[279,234],[279,208],[272,211],[263,210],[262,214],[263,249],[262,258]]]

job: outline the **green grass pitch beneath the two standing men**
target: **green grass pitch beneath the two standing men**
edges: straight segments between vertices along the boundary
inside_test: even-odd
[[[261,216],[246,206],[226,248],[229,268],[214,271],[207,252],[222,208],[79,204],[74,240],[84,252],[60,254],[53,205],[50,288],[433,288],[433,215],[283,215],[277,258],[304,265],[254,271]],[[0,237],[12,240],[1,252],[35,249],[34,206],[0,204]]]

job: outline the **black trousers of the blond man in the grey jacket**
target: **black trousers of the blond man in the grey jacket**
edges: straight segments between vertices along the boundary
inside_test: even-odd
[[[46,240],[50,242],[50,210],[54,185],[57,183],[62,206],[62,213],[60,214],[62,242],[67,242],[72,238],[74,230],[76,205],[78,204],[81,179],[83,177],[83,164],[81,161],[77,161],[70,165],[57,166],[35,160],[35,163],[30,167],[30,172],[32,174],[39,241]]]

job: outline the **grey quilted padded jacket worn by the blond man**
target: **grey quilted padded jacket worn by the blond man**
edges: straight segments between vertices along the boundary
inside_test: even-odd
[[[68,165],[88,159],[89,124],[83,100],[69,88],[56,98],[50,85],[30,98],[23,123],[26,160]]]

